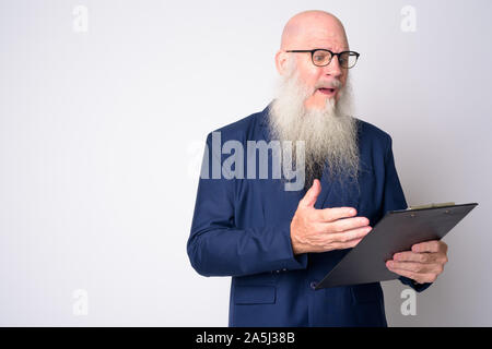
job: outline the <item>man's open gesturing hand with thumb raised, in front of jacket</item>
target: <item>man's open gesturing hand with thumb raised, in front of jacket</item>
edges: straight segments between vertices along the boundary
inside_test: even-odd
[[[320,192],[321,184],[315,179],[313,186],[298,202],[291,222],[294,254],[353,248],[372,230],[367,218],[353,217],[356,215],[355,208],[314,208]]]

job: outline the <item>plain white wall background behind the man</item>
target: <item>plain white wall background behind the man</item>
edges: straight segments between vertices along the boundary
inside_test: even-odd
[[[361,52],[358,117],[391,134],[408,203],[479,203],[415,316],[384,282],[389,325],[492,325],[489,0],[1,0],[0,325],[227,324],[230,278],[186,254],[204,137],[271,100],[282,27],[309,9]]]

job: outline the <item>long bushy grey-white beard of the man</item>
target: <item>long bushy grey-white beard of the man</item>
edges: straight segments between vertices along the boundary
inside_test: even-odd
[[[358,181],[359,146],[358,122],[351,117],[350,83],[340,91],[340,98],[327,99],[323,109],[308,110],[304,101],[308,91],[296,72],[280,81],[277,98],[270,108],[272,140],[292,141],[292,165],[295,167],[295,143],[305,142],[305,188],[320,179],[328,170],[330,180],[343,183]]]

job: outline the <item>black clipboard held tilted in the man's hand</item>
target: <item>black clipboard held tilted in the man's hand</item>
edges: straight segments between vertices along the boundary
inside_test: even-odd
[[[386,261],[397,252],[411,250],[415,243],[441,240],[477,205],[431,204],[387,212],[315,289],[399,278],[388,270]]]

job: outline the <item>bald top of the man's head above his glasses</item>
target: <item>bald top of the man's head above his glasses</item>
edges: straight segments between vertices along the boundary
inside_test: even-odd
[[[331,13],[304,11],[294,15],[285,24],[280,49],[320,48],[313,47],[313,45],[321,45],[321,43],[328,45],[333,43],[349,49],[343,24]]]

